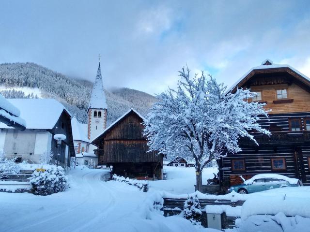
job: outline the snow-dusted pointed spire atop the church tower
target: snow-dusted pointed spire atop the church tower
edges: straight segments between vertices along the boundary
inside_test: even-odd
[[[103,88],[100,63],[95,82],[93,83],[93,91],[88,109],[108,109],[105,90]]]

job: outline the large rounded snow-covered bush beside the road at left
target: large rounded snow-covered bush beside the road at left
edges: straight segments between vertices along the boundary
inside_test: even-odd
[[[34,171],[29,179],[35,195],[47,196],[68,188],[62,167],[50,167],[45,172]]]

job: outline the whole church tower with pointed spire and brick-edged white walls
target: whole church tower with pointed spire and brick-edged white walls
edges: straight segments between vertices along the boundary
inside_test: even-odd
[[[91,100],[88,106],[88,134],[87,137],[91,141],[101,134],[107,127],[108,105],[106,95],[103,89],[103,81],[100,69],[100,60]]]

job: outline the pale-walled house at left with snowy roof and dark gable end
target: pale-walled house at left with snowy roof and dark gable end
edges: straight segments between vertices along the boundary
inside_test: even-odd
[[[20,131],[0,123],[0,151],[7,158],[16,158],[29,163],[40,163],[43,156],[50,162],[70,166],[70,157],[75,156],[71,116],[64,106],[54,99],[8,99],[20,109],[26,121],[26,129]],[[53,138],[64,134],[61,145]],[[58,155],[59,154],[59,155]]]

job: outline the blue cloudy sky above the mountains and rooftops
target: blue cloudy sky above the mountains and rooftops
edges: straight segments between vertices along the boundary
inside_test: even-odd
[[[184,65],[232,85],[265,58],[310,76],[310,1],[8,0],[0,63],[35,62],[154,94]]]

